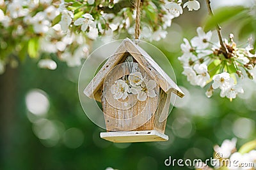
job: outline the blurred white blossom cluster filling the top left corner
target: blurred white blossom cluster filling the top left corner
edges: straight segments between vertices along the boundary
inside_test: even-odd
[[[72,15],[72,12],[66,12]],[[61,23],[53,24],[58,16],[65,18],[64,13],[60,1],[3,1],[0,4],[0,27],[3,27],[5,32],[0,33],[0,39],[6,46],[1,46],[0,51],[10,48],[10,53],[17,57],[27,51],[29,57],[38,60],[38,67],[51,70],[57,67],[52,53],[67,62],[70,67],[81,65],[81,59],[89,52],[86,38],[74,31],[62,31]],[[4,54],[6,56],[2,56]],[[0,74],[4,73],[8,62],[12,66],[13,59],[10,60],[8,55],[10,54],[1,52]]]

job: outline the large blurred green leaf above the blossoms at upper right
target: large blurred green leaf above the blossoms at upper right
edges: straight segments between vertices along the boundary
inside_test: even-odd
[[[205,31],[209,31],[216,27],[216,23],[221,24],[223,22],[227,22],[236,16],[242,17],[241,13],[246,9],[247,8],[244,8],[244,6],[225,6],[218,8],[216,11],[214,11],[214,16],[209,16],[206,18],[204,28]]]

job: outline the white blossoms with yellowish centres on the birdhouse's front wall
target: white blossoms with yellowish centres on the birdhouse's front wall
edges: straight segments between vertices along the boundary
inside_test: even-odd
[[[143,78],[140,72],[136,71],[120,80],[116,80],[111,86],[111,93],[114,99],[126,99],[128,94],[136,94],[138,101],[146,101],[147,97],[156,97],[154,88],[156,81]]]

